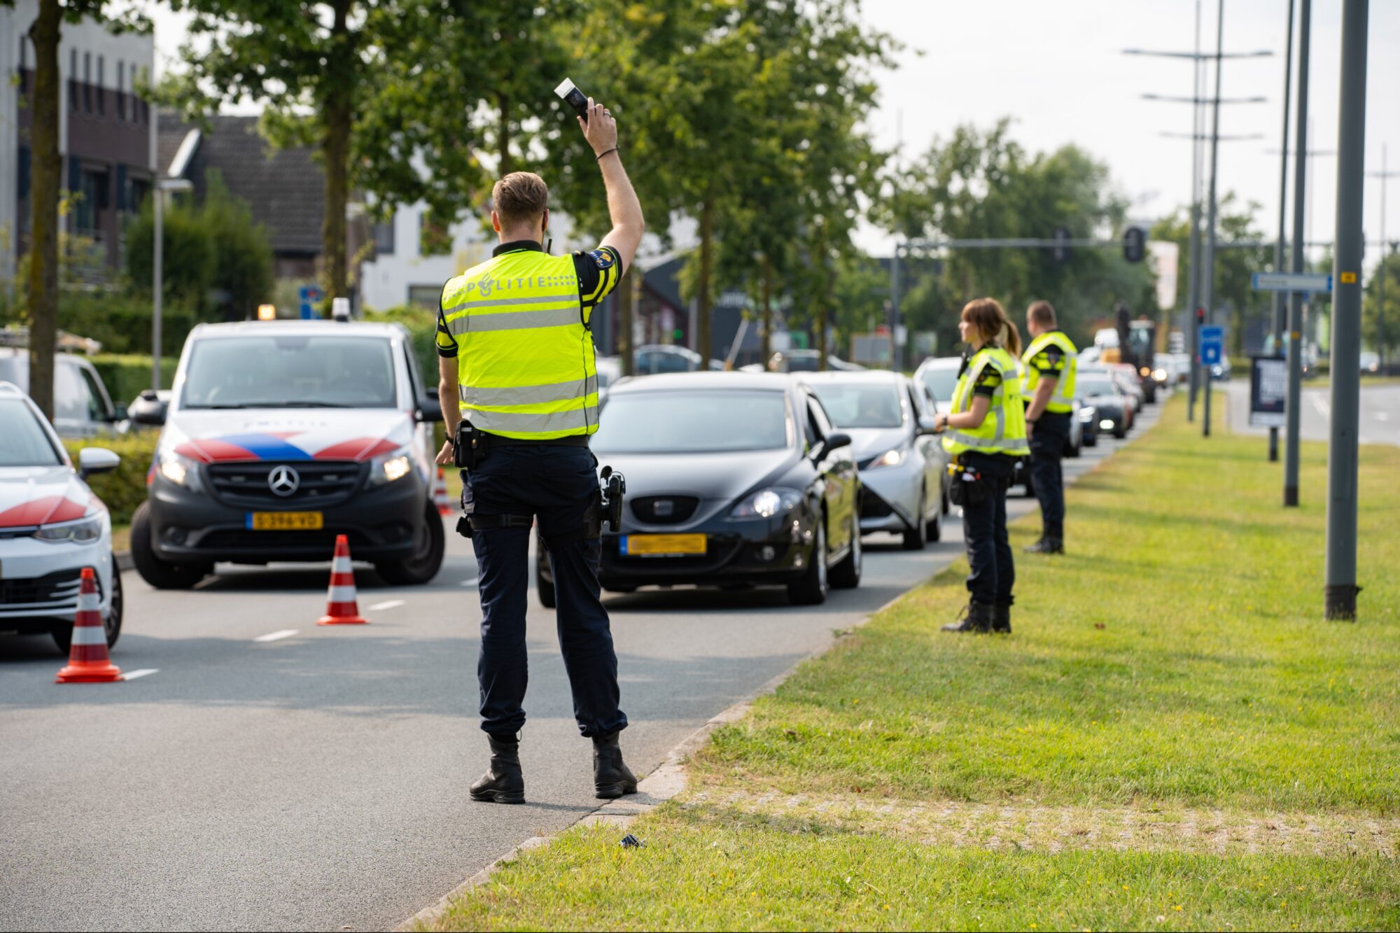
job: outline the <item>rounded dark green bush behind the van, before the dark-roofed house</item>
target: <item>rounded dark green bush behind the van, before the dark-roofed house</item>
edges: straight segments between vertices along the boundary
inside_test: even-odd
[[[204,199],[181,198],[161,216],[167,298],[196,308],[204,318],[244,321],[272,300],[273,254],[267,228],[256,223],[248,205],[230,193],[217,170],[210,170]],[[139,294],[151,289],[151,244],[155,219],[151,203],[126,230],[126,273]]]

